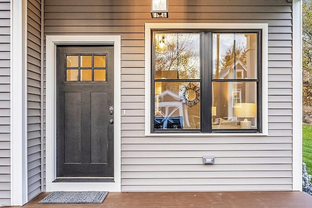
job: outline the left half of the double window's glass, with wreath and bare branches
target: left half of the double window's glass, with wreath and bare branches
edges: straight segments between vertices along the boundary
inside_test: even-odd
[[[199,33],[155,33],[154,129],[200,129],[199,40]]]

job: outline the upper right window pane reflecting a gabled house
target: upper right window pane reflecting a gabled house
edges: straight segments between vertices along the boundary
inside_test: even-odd
[[[257,34],[213,35],[214,79],[257,78]]]

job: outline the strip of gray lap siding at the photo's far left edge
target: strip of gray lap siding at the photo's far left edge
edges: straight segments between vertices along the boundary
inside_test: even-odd
[[[0,206],[10,205],[10,0],[0,2]]]

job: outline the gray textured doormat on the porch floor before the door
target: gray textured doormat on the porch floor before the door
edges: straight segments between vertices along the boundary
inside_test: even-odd
[[[54,191],[44,197],[40,204],[84,204],[104,201],[108,191]]]

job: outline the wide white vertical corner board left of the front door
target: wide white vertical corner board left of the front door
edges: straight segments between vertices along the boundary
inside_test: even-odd
[[[28,201],[27,1],[11,1],[10,18],[10,192],[11,206],[22,206]]]

